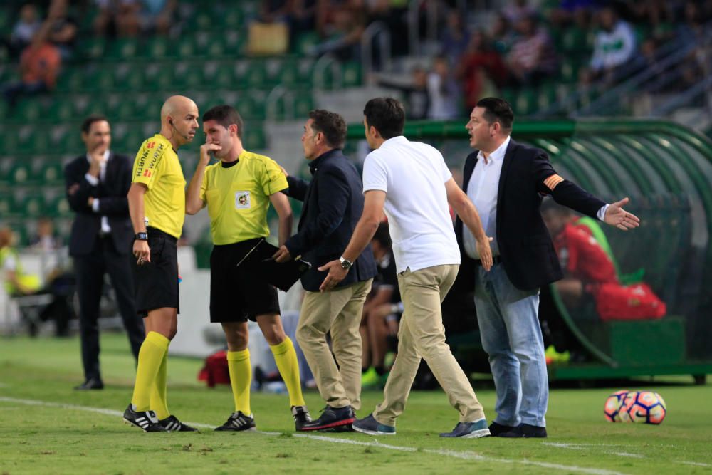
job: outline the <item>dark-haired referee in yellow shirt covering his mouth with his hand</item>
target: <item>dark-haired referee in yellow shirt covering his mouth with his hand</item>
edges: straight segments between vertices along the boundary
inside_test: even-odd
[[[210,256],[210,321],[221,323],[228,345],[227,362],[235,411],[216,430],[254,430],[250,409],[252,366],[247,348],[247,320],[256,321],[282,375],[296,429],[310,422],[299,379],[297,354],[284,333],[276,288],[238,263],[269,235],[269,204],[279,216],[279,244],[292,231],[287,179],[269,157],[242,148],[243,122],[229,105],[203,115],[206,143],[187,189],[185,211],[196,214],[206,204],[213,251]],[[208,166],[210,155],[220,162]]]

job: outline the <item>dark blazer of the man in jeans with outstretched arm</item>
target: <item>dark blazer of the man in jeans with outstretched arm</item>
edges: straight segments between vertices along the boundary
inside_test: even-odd
[[[477,163],[478,152],[468,155],[462,186],[467,191]],[[543,183],[556,174],[543,150],[510,140],[502,164],[497,193],[497,243],[502,266],[513,285],[534,290],[563,277],[559,259],[539,212],[544,194],[577,212],[596,217],[605,204],[576,184],[564,180],[553,191]],[[474,285],[475,262],[462,245],[463,222],[455,221],[455,233],[462,254],[463,282]],[[469,281],[468,281],[469,279]]]

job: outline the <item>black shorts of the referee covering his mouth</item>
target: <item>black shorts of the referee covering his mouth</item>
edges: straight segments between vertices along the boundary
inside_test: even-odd
[[[245,322],[279,313],[277,289],[246,264],[237,266],[259,239],[214,246],[210,254],[210,321]]]

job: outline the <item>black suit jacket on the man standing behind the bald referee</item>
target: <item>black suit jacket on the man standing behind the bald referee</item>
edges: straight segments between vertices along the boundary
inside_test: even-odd
[[[101,216],[107,216],[111,237],[119,254],[128,254],[133,227],[126,198],[131,187],[132,160],[127,155],[111,153],[103,181],[92,186],[85,174],[89,171],[86,155],[80,155],[64,167],[64,180],[69,206],[76,213],[69,236],[70,256],[85,256],[94,248],[101,230]],[[73,185],[79,188],[70,192]],[[87,204],[89,197],[99,199],[99,211]]]

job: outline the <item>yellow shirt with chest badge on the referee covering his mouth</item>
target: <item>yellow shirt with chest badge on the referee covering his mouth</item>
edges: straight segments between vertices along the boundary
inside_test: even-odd
[[[269,196],[288,188],[279,165],[244,150],[236,165],[205,169],[200,199],[208,204],[213,244],[234,244],[269,235]]]

